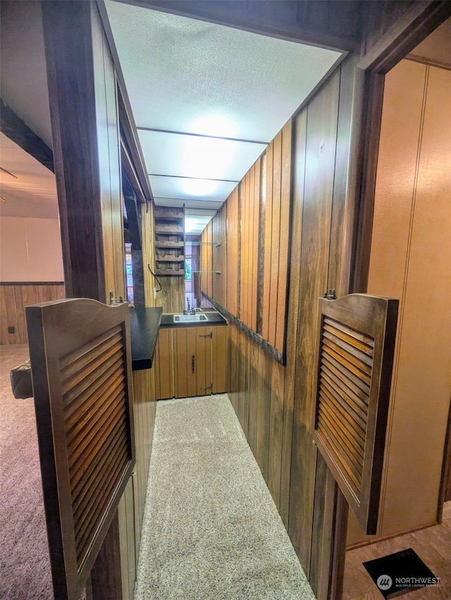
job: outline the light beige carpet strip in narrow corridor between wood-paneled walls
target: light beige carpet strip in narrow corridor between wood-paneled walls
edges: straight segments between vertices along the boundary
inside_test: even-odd
[[[136,600],[314,599],[226,394],[161,401]]]

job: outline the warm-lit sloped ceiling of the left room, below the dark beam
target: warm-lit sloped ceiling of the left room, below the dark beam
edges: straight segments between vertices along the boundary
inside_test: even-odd
[[[3,133],[0,167],[0,215],[58,218],[55,175]]]

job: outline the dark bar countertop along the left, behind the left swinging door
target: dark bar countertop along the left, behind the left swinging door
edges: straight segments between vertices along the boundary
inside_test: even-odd
[[[156,338],[163,308],[130,308],[130,341],[132,346],[132,370],[152,367]]]

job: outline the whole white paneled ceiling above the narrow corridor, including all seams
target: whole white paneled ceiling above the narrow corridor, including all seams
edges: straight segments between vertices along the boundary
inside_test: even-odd
[[[140,142],[147,171],[156,175],[241,180],[341,57],[149,8],[105,4],[135,123],[146,128]],[[157,203],[191,198],[199,206],[224,201],[235,187],[211,186],[211,193],[197,195],[194,185],[190,193],[175,177],[151,176],[150,183]]]

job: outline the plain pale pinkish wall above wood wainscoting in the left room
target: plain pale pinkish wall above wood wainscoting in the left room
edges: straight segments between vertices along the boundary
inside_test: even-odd
[[[63,281],[58,219],[0,217],[0,281]]]

